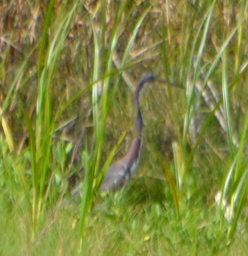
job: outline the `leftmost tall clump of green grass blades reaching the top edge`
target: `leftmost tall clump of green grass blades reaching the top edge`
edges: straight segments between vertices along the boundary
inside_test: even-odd
[[[51,19],[53,16],[52,10],[54,6],[54,1],[51,1],[41,37],[38,63],[38,95],[35,126],[35,155],[36,163],[39,163],[39,171],[37,171],[39,184],[37,184],[38,187],[36,188],[36,190],[39,191],[38,210],[36,211],[37,219],[39,219],[42,211],[43,202],[48,196],[48,193],[45,193],[45,189],[49,189],[50,186],[46,188],[46,183],[50,183],[51,179],[53,178],[53,175],[48,173],[50,170],[49,164],[51,161],[52,152],[52,134],[55,128],[55,123],[52,121],[50,86],[62,46],[69,31],[72,15],[78,6],[78,3],[79,1],[75,1],[67,12],[65,12],[65,9],[68,8],[67,3],[62,5],[54,24],[52,24],[52,27],[50,28],[50,30],[55,28],[55,35],[54,37],[51,37],[51,43],[47,43],[47,41],[49,41],[48,27],[49,24],[51,24]],[[66,15],[64,15],[65,13]],[[44,44],[48,44],[47,53],[44,51]],[[50,175],[50,181],[48,181],[48,174]]]

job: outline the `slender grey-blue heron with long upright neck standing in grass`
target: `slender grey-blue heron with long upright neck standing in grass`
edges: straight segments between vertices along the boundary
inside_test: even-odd
[[[142,114],[139,106],[139,94],[145,83],[154,82],[157,78],[152,73],[143,75],[138,82],[138,85],[134,91],[134,113],[135,118],[135,138],[133,139],[129,150],[119,160],[114,162],[108,169],[107,174],[100,186],[100,191],[107,191],[111,189],[117,189],[125,181],[129,180],[137,170],[140,150],[141,150],[141,133],[143,129]],[[163,80],[160,80],[166,83]],[[80,188],[76,188],[72,191],[72,195],[76,195],[80,192]]]

